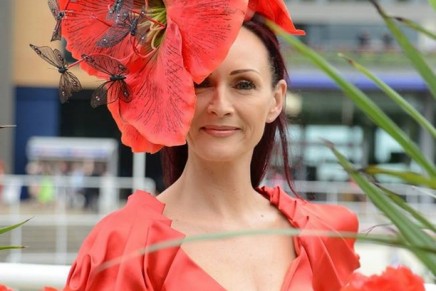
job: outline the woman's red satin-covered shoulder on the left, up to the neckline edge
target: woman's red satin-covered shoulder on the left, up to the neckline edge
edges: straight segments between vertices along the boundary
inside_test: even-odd
[[[130,288],[133,285],[148,290],[143,286],[141,250],[167,235],[162,231],[168,229],[163,208],[153,195],[136,191],[123,208],[101,219],[83,241],[65,290],[108,290],[118,285],[123,288],[117,290],[136,290]],[[102,268],[105,265],[109,267]],[[124,280],[126,276],[131,280]]]

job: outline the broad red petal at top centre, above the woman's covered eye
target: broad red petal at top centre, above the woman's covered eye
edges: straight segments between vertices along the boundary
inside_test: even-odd
[[[180,28],[183,59],[200,83],[226,57],[247,10],[247,0],[164,0],[167,18]]]

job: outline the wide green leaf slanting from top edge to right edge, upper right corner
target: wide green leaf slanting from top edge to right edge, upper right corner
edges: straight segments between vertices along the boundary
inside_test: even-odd
[[[397,40],[398,44],[403,49],[403,52],[406,54],[406,56],[412,62],[415,69],[419,72],[421,77],[424,79],[428,89],[433,95],[433,98],[436,99],[436,82],[435,82],[436,75],[433,73],[430,66],[427,65],[422,54],[413,46],[413,44],[410,42],[407,36],[401,31],[401,29],[395,23],[393,18],[386,14],[386,12],[377,3],[377,1],[375,0],[369,0],[369,1],[377,9],[377,12],[383,18],[386,26],[391,31],[392,36]]]

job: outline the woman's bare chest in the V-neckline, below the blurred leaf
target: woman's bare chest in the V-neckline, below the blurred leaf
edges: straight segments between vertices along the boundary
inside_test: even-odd
[[[200,269],[226,290],[280,290],[295,259],[291,237],[244,235],[182,245]]]

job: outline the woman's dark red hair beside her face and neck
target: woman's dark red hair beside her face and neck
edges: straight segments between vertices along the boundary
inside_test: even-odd
[[[279,42],[275,34],[264,23],[262,17],[255,15],[251,20],[244,22],[243,26],[259,37],[268,50],[272,68],[272,86],[278,81],[287,80],[288,74],[283,57],[280,53]],[[251,184],[258,187],[264,178],[270,164],[271,155],[275,148],[276,133],[281,144],[283,158],[283,172],[292,192],[292,175],[289,167],[288,142],[287,142],[287,118],[284,110],[275,121],[265,125],[265,131],[257,146],[254,148],[251,158],[250,174]],[[165,186],[173,184],[182,174],[188,159],[188,146],[166,147],[161,151],[162,169]]]

